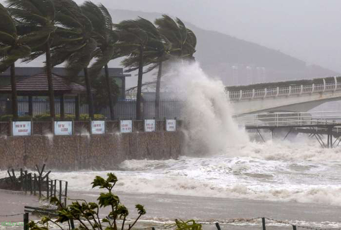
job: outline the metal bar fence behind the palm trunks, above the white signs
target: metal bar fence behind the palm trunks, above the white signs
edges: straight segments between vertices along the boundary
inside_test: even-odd
[[[75,100],[65,99],[64,110],[66,115],[75,114]],[[0,100],[0,116],[8,114],[8,109],[11,106],[11,101]],[[183,101],[178,100],[161,100],[159,104],[159,118],[180,118],[181,111],[184,106]],[[49,102],[45,99],[33,100],[33,116],[49,113]],[[142,115],[144,119],[152,119],[155,117],[155,101],[143,101],[141,103]],[[18,100],[18,113],[20,116],[28,115],[28,100]],[[60,114],[60,100],[55,100],[56,114]],[[81,114],[88,114],[88,105],[83,104],[80,106]],[[102,109],[100,114],[110,117],[109,107]],[[120,119],[136,119],[136,100],[120,100],[114,106],[115,118]]]

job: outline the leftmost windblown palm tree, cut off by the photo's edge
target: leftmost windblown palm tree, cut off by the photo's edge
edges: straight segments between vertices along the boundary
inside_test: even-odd
[[[11,68],[12,114],[18,119],[18,100],[15,79],[15,62],[31,53],[29,46],[24,44],[25,37],[19,36],[16,25],[6,10],[0,4],[0,72]]]

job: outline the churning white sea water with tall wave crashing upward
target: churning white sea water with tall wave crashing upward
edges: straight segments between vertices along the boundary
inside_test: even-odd
[[[252,141],[234,122],[221,81],[207,77],[198,64],[174,66],[164,80],[186,102],[183,156],[126,160],[112,171],[54,170],[51,176],[67,180],[71,194],[86,196],[100,192],[90,187],[96,175],[113,172],[119,178],[115,192],[128,193],[128,202],[147,202],[151,214],[144,220],[154,224],[181,216],[217,221],[264,213],[308,226],[341,227],[341,148],[322,149],[303,134],[293,140]]]

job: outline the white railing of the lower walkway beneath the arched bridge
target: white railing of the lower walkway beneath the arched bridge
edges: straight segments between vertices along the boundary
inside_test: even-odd
[[[269,113],[236,115],[234,119],[239,126],[304,126],[341,124],[341,111],[331,112],[302,112],[302,113]]]

